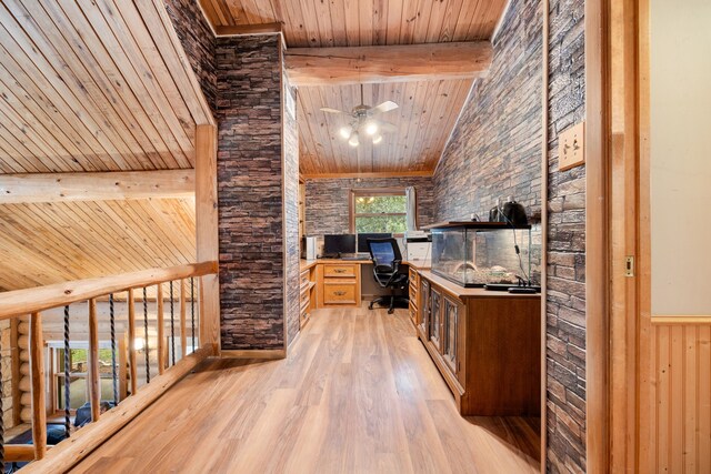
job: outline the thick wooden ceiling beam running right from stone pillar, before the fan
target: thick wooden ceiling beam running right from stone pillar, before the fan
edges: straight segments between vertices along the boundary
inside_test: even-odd
[[[489,41],[294,48],[286,63],[292,85],[334,85],[470,79],[491,65]]]

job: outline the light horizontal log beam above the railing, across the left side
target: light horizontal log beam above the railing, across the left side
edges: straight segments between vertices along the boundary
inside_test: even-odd
[[[0,174],[0,204],[191,198],[194,170]]]

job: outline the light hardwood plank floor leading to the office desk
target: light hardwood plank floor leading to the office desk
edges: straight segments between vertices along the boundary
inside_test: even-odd
[[[209,361],[73,472],[538,472],[539,418],[469,417],[407,312],[319,310],[283,361]]]

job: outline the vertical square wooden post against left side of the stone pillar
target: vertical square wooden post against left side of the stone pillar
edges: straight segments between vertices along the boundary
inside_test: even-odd
[[[198,261],[217,261],[218,239],[218,142],[214,125],[196,129],[196,241]],[[217,274],[201,279],[200,346],[220,351],[220,282]]]

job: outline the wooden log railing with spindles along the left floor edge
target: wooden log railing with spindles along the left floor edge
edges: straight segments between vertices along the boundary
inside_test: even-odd
[[[41,288],[18,290],[0,293],[0,320],[26,319],[29,315],[29,377],[31,381],[31,423],[32,423],[32,445],[9,444],[4,445],[0,437],[0,447],[4,447],[2,462],[27,462],[33,461],[23,468],[23,472],[63,472],[74,465],[81,457],[91,452],[96,446],[112,436],[118,430],[136,417],[144,407],[156,401],[167,389],[178,382],[198,363],[207,356],[214,354],[214,344],[209,336],[203,337],[198,331],[199,344],[193,344],[192,352],[187,354],[187,293],[190,283],[191,294],[191,337],[196,337],[196,323],[193,317],[198,317],[202,323],[206,317],[216,317],[206,314],[214,305],[206,302],[202,297],[202,278],[217,274],[217,262],[203,262],[189,265],[173,266],[169,269],[151,269],[134,273],[127,273],[114,276],[99,279],[80,280],[73,282],[58,283]],[[178,291],[173,292],[173,282],[179,282]],[[190,282],[190,283],[188,283]],[[171,316],[174,317],[176,301],[179,302],[179,326],[180,326],[180,360],[176,357],[176,339],[173,332],[173,321],[171,320],[171,357],[167,357],[168,346],[164,334],[164,310],[166,291],[168,286],[170,299],[168,300]],[[196,288],[197,286],[197,288]],[[146,384],[139,387],[137,361],[137,325],[136,325],[136,290],[141,290],[143,309],[144,333],[148,335],[148,301],[152,297],[156,302],[156,325],[158,376],[151,379],[151,365],[148,352],[146,352]],[[197,293],[194,290],[198,290]],[[116,406],[106,413],[101,413],[101,381],[99,361],[99,312],[98,302],[103,304],[109,301],[111,307],[111,346],[112,354],[116,354],[114,323],[114,295],[126,294],[128,319],[128,377],[130,380],[130,396],[124,400],[114,400]],[[197,303],[197,301],[199,303]],[[44,362],[44,339],[42,332],[42,313],[58,307],[67,307],[64,320],[64,347],[69,347],[68,309],[72,303],[88,302],[87,327],[88,327],[88,369],[87,383],[90,394],[91,423],[80,430],[72,430],[69,425],[69,412],[67,412],[66,438],[56,447],[48,451],[47,446],[47,403],[46,403],[46,362]],[[196,304],[197,303],[197,304]],[[148,337],[144,340],[148,344]],[[198,345],[198,347],[196,347]],[[149,351],[148,346],[144,351]],[[168,359],[170,359],[170,364]],[[112,363],[113,364],[113,363]],[[114,367],[116,365],[113,365]],[[112,371],[113,371],[112,367]],[[116,371],[113,371],[116,377]],[[1,379],[1,376],[0,376]],[[18,383],[19,381],[13,381]],[[149,383],[150,382],[150,383]],[[116,383],[116,380],[114,380]],[[116,393],[116,389],[114,389]],[[116,396],[116,395],[114,395]],[[64,400],[70,400],[69,393],[64,393]],[[1,406],[0,406],[1,409]],[[0,414],[2,411],[0,410]],[[1,434],[1,433],[0,433]],[[0,450],[1,452],[1,450]]]

